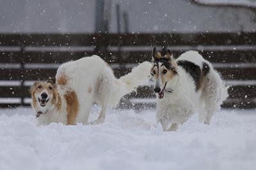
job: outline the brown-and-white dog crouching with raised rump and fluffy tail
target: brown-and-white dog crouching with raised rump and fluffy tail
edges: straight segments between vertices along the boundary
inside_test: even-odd
[[[113,70],[99,56],[70,61],[56,73],[56,84],[35,82],[31,86],[32,106],[38,125],[61,122],[65,125],[88,124],[94,102],[101,106],[102,123],[108,107],[115,107],[127,93],[148,81],[150,62],[132,68],[132,72],[116,79]]]

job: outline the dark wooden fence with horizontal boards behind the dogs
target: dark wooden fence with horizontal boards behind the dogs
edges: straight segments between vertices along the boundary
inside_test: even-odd
[[[150,61],[153,46],[168,47],[175,57],[200,51],[231,85],[223,107],[256,108],[256,33],[0,35],[0,107],[29,105],[31,83],[54,77],[66,61],[97,54],[120,77]],[[140,87],[120,107],[155,107],[155,98],[152,86]]]

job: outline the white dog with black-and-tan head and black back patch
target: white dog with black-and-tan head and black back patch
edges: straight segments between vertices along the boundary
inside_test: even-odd
[[[225,82],[198,52],[188,51],[174,60],[166,54],[152,52],[151,75],[156,82],[157,122],[164,131],[177,130],[195,112],[199,121],[209,125],[212,115],[228,97]]]

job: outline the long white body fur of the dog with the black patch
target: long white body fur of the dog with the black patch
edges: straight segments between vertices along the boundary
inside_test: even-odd
[[[186,122],[195,112],[198,112],[199,121],[209,124],[214,112],[220,109],[222,102],[228,97],[225,82],[196,51],[183,53],[176,61],[187,60],[200,66],[202,62],[209,65],[210,71],[205,77],[202,89],[195,91],[195,83],[189,73],[181,66],[177,66],[177,72],[173,79],[168,81],[166,89],[173,89],[173,93],[164,93],[164,98],[157,98],[157,122],[160,122],[163,130],[177,130],[179,125]]]

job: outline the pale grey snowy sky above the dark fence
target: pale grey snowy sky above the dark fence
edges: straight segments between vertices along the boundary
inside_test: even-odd
[[[112,0],[110,31],[116,31],[115,4],[129,13],[130,31],[256,31],[248,8],[197,6],[189,0]],[[0,0],[0,33],[88,33],[94,31],[95,0]]]

